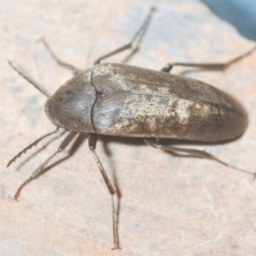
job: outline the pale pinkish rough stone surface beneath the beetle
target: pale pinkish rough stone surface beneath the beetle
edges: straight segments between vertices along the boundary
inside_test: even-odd
[[[90,67],[99,55],[125,44],[155,1],[3,1],[0,3],[0,255],[255,255],[256,183],[210,160],[172,157],[137,140],[108,138],[108,172],[122,191],[119,235],[113,252],[111,201],[87,142],[24,189],[15,189],[58,143],[39,143],[7,169],[7,161],[54,125],[45,97],[7,63],[15,61],[49,92],[71,77],[62,60]],[[225,61],[253,46],[199,1],[158,1],[158,12],[131,64],[160,69],[167,61]],[[255,54],[224,73],[189,73],[241,100],[250,123],[233,143],[202,146],[233,166],[255,171]],[[116,56],[109,61],[119,61]],[[173,73],[179,73],[174,68]],[[48,140],[49,141],[49,140]],[[124,143],[122,143],[124,142]],[[38,154],[35,154],[38,153]],[[63,155],[62,155],[63,156]],[[65,154],[64,154],[65,156]],[[21,168],[22,167],[22,168]]]

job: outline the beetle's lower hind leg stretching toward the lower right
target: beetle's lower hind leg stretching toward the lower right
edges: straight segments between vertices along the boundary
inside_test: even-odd
[[[195,149],[195,148],[179,148],[179,147],[174,147],[172,145],[163,145],[160,144],[158,139],[155,138],[144,138],[145,143],[150,145],[153,148],[160,148],[162,150],[166,150],[171,152],[172,154],[175,154],[177,156],[189,156],[189,157],[200,157],[200,158],[206,158],[209,160],[215,160],[218,163],[222,164],[223,166],[230,167],[232,169],[235,169],[236,171],[239,172],[245,172],[250,175],[255,175],[254,172],[249,172],[247,170],[243,170],[239,167],[236,166],[231,166],[230,164],[224,162],[223,160],[218,159],[216,156],[213,154],[209,154],[206,151],[200,150],[200,149]]]

